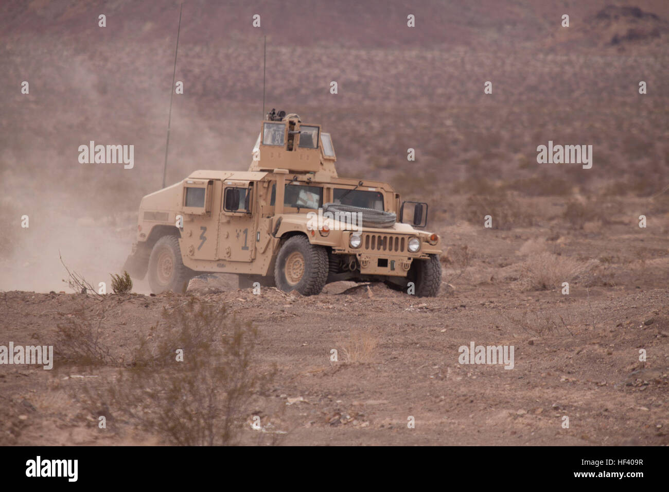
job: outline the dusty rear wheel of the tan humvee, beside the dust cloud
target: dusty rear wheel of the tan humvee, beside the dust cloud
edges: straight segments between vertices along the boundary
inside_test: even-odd
[[[188,281],[197,272],[184,266],[177,236],[163,236],[157,240],[149,257],[149,286],[151,292],[185,293]]]

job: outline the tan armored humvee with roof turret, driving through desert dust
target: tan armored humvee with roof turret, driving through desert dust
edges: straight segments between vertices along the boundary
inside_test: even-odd
[[[240,288],[302,295],[337,280],[437,295],[440,238],[415,228],[427,223],[427,204],[400,203],[387,183],[337,177],[336,160],[319,125],[272,110],[248,171],[194,171],[142,198],[124,269],[148,272],[154,293],[217,272],[237,274]]]

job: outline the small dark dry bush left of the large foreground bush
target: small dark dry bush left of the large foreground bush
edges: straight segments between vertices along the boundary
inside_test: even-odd
[[[94,319],[82,307],[56,325],[56,340],[52,345],[59,357],[80,365],[115,364],[116,357],[101,340],[102,321],[107,309],[103,305],[97,319]]]

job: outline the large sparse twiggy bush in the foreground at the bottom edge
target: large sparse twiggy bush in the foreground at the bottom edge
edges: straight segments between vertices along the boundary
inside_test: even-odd
[[[252,363],[257,330],[225,307],[193,298],[165,311],[165,320],[140,340],[132,367],[114,384],[86,392],[86,405],[114,409],[169,444],[237,443],[250,401],[275,374],[262,374]]]

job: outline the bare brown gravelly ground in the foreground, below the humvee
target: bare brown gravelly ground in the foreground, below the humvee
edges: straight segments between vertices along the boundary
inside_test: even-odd
[[[1,333],[15,345],[53,344],[56,362],[53,370],[0,367],[2,442],[165,442],[115,400],[82,399],[82,388],[114,386],[132,370],[138,339],[167,329],[163,310],[193,300],[256,325],[250,370],[272,373],[240,408],[234,442],[668,444],[669,221],[654,233],[615,219],[606,234],[590,222],[571,230],[562,218],[512,231],[437,226],[449,249],[436,298],[353,282],[312,297],[274,288],[254,295],[226,276],[195,278],[185,295],[5,292]],[[544,281],[548,288],[537,286]],[[116,360],[59,357],[71,347],[57,327],[72,318],[90,320],[96,345]],[[459,363],[458,347],[471,341],[513,345],[513,369]]]

